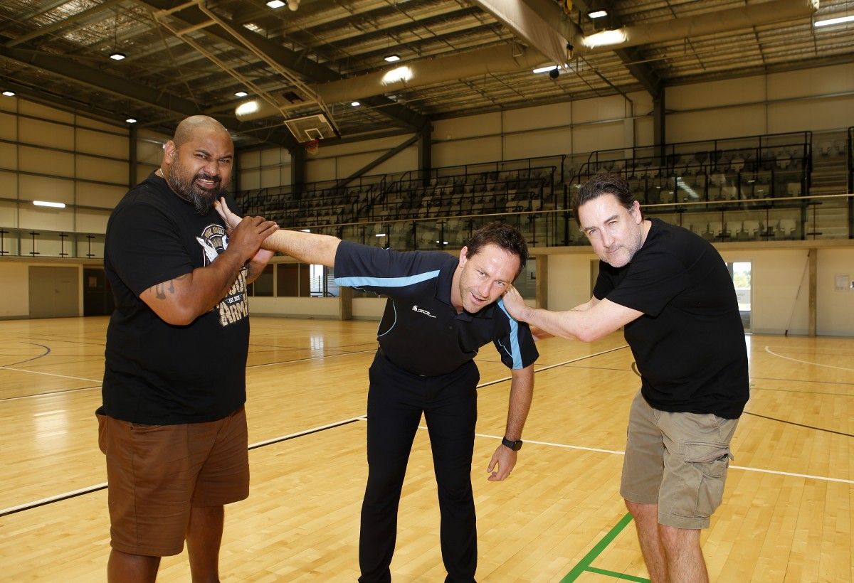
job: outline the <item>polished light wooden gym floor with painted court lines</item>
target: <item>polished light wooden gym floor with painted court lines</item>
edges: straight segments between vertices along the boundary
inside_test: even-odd
[[[253,318],[249,499],[226,510],[228,581],[353,581],[366,480],[375,322]],[[0,580],[104,580],[107,493],[94,411],[107,318],[0,322]],[[722,507],[703,535],[712,580],[851,581],[854,339],[747,336],[752,398]],[[617,493],[629,400],[621,334],[540,344],[517,469],[487,481],[509,375],[484,347],[472,480],[480,581],[646,580]],[[412,450],[395,581],[440,581],[429,442]],[[161,581],[189,580],[185,555]]]

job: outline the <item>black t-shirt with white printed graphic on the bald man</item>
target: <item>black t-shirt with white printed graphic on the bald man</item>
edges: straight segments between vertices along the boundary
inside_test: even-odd
[[[233,199],[227,200],[231,207]],[[243,405],[245,268],[218,306],[186,326],[167,324],[139,299],[157,283],[209,265],[227,247],[219,214],[199,215],[154,173],[116,205],[104,248],[115,297],[102,388],[107,415],[135,423],[202,423]]]

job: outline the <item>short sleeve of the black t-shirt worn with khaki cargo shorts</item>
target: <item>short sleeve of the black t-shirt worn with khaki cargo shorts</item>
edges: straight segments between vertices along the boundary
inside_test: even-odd
[[[625,277],[605,297],[655,317],[690,284],[688,271],[676,255],[650,249],[635,254]]]

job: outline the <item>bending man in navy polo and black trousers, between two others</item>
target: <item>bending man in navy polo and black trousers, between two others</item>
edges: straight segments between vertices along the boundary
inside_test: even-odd
[[[228,224],[240,220],[224,204],[218,208]],[[338,285],[389,296],[369,370],[359,580],[391,580],[397,508],[424,412],[439,487],[446,581],[473,581],[477,528],[471,458],[480,380],[473,359],[478,348],[493,342],[512,370],[505,435],[489,461],[488,480],[504,480],[516,464],[534,392],[539,356],[534,339],[500,299],[528,259],[524,237],[508,224],[485,224],[459,258],[437,251],[401,253],[294,230],[277,231],[263,246],[305,263],[334,266]]]

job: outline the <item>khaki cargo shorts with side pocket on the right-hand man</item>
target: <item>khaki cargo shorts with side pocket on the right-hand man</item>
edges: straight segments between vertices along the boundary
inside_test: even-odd
[[[708,528],[723,498],[738,422],[658,411],[639,391],[629,411],[620,494],[629,502],[658,504],[660,524]]]

